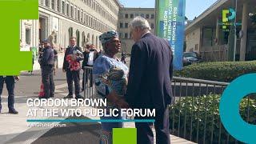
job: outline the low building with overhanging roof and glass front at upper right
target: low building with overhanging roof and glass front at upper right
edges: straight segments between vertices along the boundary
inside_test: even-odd
[[[186,26],[186,51],[197,51],[206,61],[255,60],[255,7],[254,0],[218,0]]]

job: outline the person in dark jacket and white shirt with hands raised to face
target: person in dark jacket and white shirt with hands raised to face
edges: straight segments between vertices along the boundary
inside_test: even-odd
[[[82,81],[82,90],[84,90],[84,84],[87,84],[88,78],[90,78],[90,87],[93,86],[93,74],[90,70],[85,70],[85,66],[93,67],[94,61],[98,58],[98,51],[95,49],[94,44],[86,44],[86,50],[83,52],[84,60],[82,62],[82,69],[83,69],[83,81]],[[84,78],[86,76],[86,78]],[[86,80],[86,83],[84,83]]]

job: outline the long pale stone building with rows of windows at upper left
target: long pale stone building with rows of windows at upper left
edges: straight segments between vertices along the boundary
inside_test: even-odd
[[[39,19],[21,21],[22,47],[38,47],[54,31],[59,50],[69,45],[71,36],[78,46],[90,42],[101,49],[98,36],[117,30],[120,6],[118,0],[39,0]]]

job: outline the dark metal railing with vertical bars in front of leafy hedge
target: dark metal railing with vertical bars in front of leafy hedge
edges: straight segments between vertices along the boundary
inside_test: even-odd
[[[232,138],[222,126],[218,105],[229,83],[194,78],[174,77],[173,100],[170,106],[170,131],[180,138],[197,143],[241,143]],[[242,118],[250,123],[255,116],[254,96],[240,104]],[[252,120],[252,121],[250,121]]]

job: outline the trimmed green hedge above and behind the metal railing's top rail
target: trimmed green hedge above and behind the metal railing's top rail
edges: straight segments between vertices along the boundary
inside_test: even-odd
[[[198,78],[218,82],[231,82],[242,74],[256,73],[256,61],[250,62],[202,62],[184,66],[174,76]]]

